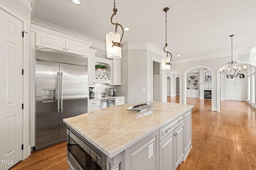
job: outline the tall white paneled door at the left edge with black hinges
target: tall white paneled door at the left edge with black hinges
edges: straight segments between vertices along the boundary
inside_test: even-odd
[[[22,21],[0,8],[0,167],[22,159]]]

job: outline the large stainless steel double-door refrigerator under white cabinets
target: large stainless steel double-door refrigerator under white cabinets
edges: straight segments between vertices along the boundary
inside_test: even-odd
[[[36,116],[34,150],[65,141],[63,119],[87,113],[88,59],[36,47]]]

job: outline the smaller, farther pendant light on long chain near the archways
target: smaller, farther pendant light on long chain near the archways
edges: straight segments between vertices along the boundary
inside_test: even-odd
[[[165,12],[165,46],[164,49],[167,47],[167,11],[169,10],[169,8],[164,8],[164,12]],[[168,51],[165,51],[166,53],[166,57],[162,57],[162,70],[171,70],[171,61],[172,61],[172,54],[169,53]],[[171,58],[168,57],[168,53],[171,55]]]

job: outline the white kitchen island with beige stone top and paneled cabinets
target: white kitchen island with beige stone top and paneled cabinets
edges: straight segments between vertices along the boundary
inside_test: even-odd
[[[63,121],[106,155],[102,170],[176,169],[192,147],[193,106],[154,101],[145,111],[126,110],[137,104],[141,103],[108,107]]]

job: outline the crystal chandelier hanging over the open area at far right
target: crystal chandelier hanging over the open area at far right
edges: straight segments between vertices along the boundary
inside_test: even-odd
[[[231,61],[228,62],[223,68],[220,68],[220,74],[226,77],[228,80],[233,81],[236,78],[243,78],[246,75],[247,69],[244,66],[244,69],[241,70],[239,66],[239,61],[233,61],[233,36],[231,37]]]

